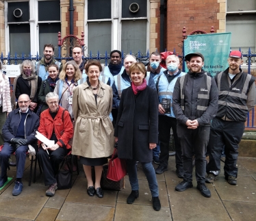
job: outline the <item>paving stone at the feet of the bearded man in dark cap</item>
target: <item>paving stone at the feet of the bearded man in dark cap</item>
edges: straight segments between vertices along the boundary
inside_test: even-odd
[[[168,192],[170,193],[169,199],[173,220],[230,221],[229,215],[215,191],[211,191],[211,198],[202,196],[199,190],[196,190],[196,187],[184,192],[173,192],[172,187],[168,186]]]

